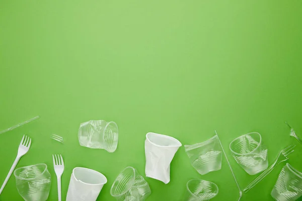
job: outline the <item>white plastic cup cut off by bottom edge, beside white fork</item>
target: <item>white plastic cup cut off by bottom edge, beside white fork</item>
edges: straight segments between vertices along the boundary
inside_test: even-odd
[[[66,201],[96,201],[107,178],[100,172],[85,167],[72,170]]]

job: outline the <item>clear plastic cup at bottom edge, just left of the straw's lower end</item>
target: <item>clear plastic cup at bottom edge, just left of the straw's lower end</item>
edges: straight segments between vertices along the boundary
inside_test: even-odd
[[[187,182],[187,190],[183,201],[210,200],[218,194],[218,187],[215,183],[202,180],[191,179]]]

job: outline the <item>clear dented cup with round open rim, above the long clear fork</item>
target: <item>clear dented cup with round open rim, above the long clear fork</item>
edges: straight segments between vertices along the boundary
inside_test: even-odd
[[[230,143],[232,155],[237,163],[250,175],[268,167],[267,149],[262,145],[259,133],[242,135]]]

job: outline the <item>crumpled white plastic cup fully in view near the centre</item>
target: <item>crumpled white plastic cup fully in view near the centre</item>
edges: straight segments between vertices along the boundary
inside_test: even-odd
[[[175,138],[158,133],[147,133],[145,140],[147,177],[170,182],[170,163],[182,144]]]

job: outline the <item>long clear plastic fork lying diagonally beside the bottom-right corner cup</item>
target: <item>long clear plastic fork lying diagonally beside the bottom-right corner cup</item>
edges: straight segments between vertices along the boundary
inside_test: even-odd
[[[292,153],[294,150],[293,148],[295,145],[290,145],[286,147],[285,149],[282,149],[279,151],[278,157],[273,162],[273,164],[267,168],[262,174],[260,174],[255,180],[253,180],[244,190],[243,192],[248,192],[250,189],[252,189],[257,183],[259,183],[266,175],[268,175],[277,165],[280,163],[288,160],[287,156]]]

